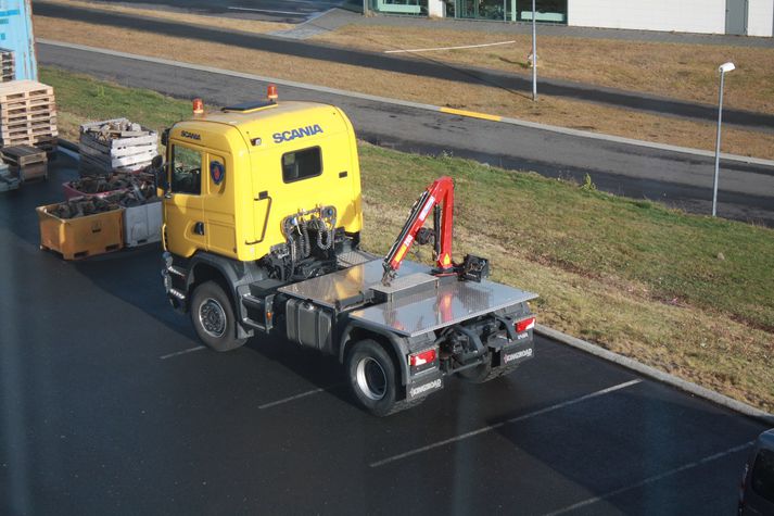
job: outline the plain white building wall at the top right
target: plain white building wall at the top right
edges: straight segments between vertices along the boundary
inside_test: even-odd
[[[568,25],[724,34],[725,0],[569,0]]]

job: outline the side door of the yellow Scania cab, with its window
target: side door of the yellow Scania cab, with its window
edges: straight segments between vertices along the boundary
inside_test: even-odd
[[[204,152],[182,142],[172,141],[168,160],[168,189],[164,194],[166,249],[189,257],[206,249],[206,224],[202,201]]]

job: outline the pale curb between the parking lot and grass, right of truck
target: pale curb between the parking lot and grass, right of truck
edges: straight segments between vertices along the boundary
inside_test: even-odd
[[[702,398],[711,403],[714,403],[715,405],[720,405],[725,408],[731,408],[734,412],[738,412],[739,414],[743,414],[747,417],[758,419],[759,421],[764,423],[769,426],[774,426],[774,414],[770,414],[767,412],[761,411],[760,408],[756,408],[754,406],[748,405],[747,403],[743,403],[740,401],[734,400],[733,398],[728,398],[727,395],[720,394],[705,387],[698,386],[690,381],[686,381],[682,378],[677,378],[676,376],[656,369],[633,358],[629,358],[627,356],[613,353],[612,351],[608,351],[604,348],[592,344],[591,342],[586,342],[585,340],[578,339],[575,337],[562,333],[561,331],[540,324],[535,325],[535,333],[542,337],[548,337],[551,340],[556,340],[557,342],[561,342],[562,344],[567,344],[571,348],[575,348],[576,350],[584,351],[605,361],[612,362],[616,365],[625,367],[626,369],[633,370],[639,375],[646,376],[661,383],[674,387],[675,389],[680,389],[695,397]]]

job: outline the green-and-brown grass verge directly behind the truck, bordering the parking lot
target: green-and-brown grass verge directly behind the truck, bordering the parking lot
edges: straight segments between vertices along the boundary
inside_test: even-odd
[[[188,115],[153,92],[52,68],[41,78],[65,137],[85,119],[163,128]],[[369,250],[385,252],[418,193],[451,175],[456,254],[488,256],[494,279],[540,292],[541,322],[774,410],[773,230],[447,155],[363,143],[360,156]]]

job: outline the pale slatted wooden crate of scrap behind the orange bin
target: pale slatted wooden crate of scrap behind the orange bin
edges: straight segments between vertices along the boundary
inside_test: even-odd
[[[137,172],[157,154],[158,134],[127,118],[80,126],[78,151],[81,175]]]

